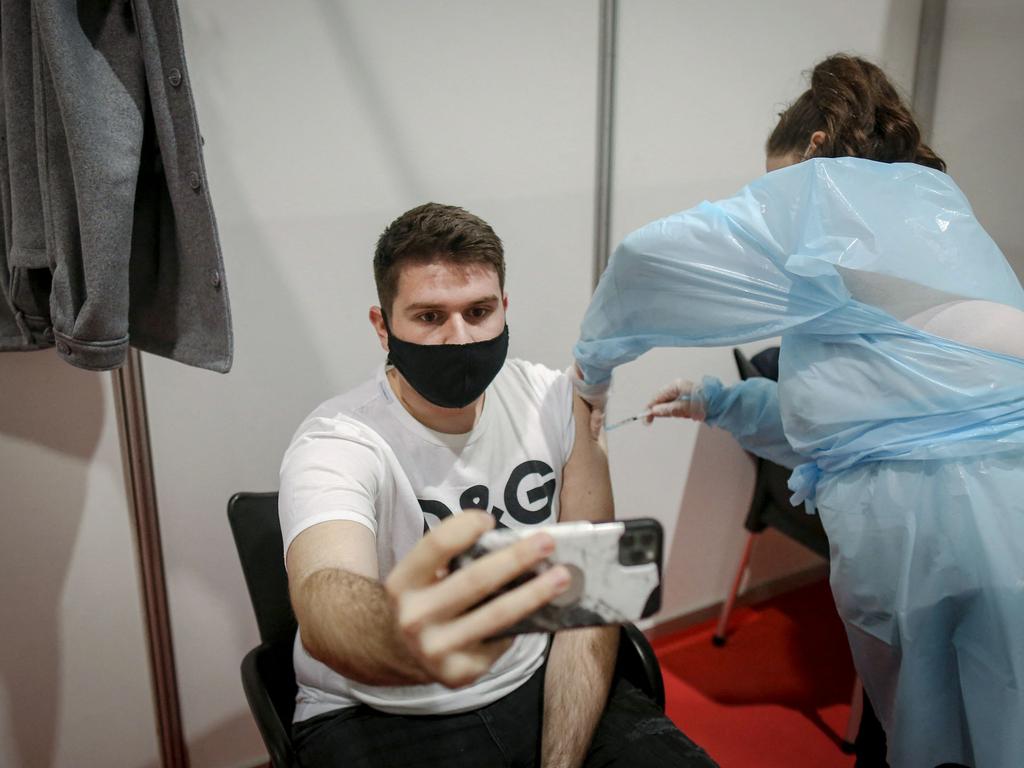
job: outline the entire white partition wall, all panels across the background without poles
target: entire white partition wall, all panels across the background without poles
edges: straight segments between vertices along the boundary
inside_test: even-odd
[[[561,368],[590,296],[598,0],[178,0],[234,313],[218,376],[143,357],[180,701],[193,768],[265,759],[239,678],[257,633],[228,531],[278,484],[323,399],[368,376],[373,247],[427,200],[506,245],[513,354]],[[763,170],[776,114],[837,51],[912,87],[921,0],[623,0],[612,242]],[[934,145],[1024,274],[1017,214],[1024,16],[950,0]],[[748,345],[749,351],[763,344]],[[735,380],[727,349],[659,350],[616,374],[611,418],[673,378]],[[0,766],[158,761],[109,375],[0,355]],[[668,535],[666,623],[721,600],[753,467],[692,424],[609,435],[620,515]],[[765,535],[752,584],[820,562]]]

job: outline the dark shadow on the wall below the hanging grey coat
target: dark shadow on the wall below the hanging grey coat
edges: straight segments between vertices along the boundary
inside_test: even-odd
[[[0,355],[0,717],[26,768],[56,749],[59,611],[106,408],[98,376],[52,350]]]

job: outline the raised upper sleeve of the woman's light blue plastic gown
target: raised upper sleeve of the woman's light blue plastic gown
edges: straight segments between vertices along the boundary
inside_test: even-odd
[[[812,182],[805,169],[777,171],[733,198],[628,236],[573,350],[585,380],[605,381],[616,366],[656,346],[778,336],[845,303],[849,293],[835,271],[808,275],[786,266],[800,252],[802,198]]]

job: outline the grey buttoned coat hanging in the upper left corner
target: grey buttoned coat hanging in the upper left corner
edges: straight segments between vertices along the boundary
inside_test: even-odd
[[[177,5],[0,4],[0,350],[231,367]]]

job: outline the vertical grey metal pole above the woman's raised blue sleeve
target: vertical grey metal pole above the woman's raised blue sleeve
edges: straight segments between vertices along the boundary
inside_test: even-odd
[[[611,170],[615,117],[615,32],[618,25],[617,0],[601,0],[598,42],[597,89],[597,182],[594,188],[594,274],[601,279],[611,254]]]

